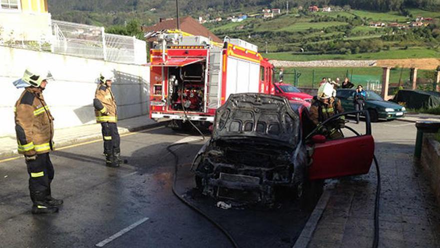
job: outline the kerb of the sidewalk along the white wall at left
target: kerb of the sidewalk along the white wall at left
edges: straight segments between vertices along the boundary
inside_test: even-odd
[[[160,121],[160,122],[156,122],[156,123],[151,123],[151,124],[146,124],[146,125],[142,125],[142,126],[138,126],[138,127],[131,127],[131,128],[118,127],[117,131],[119,132],[119,134],[133,133],[133,132],[138,132],[138,131],[141,131],[141,130],[144,130],[147,128],[162,126],[168,122],[169,121]],[[102,135],[100,133],[84,135],[81,137],[56,142],[56,147],[61,148],[64,146],[69,146],[69,145],[74,145],[77,143],[100,139],[101,137],[102,137]],[[56,149],[55,149],[55,151],[56,151]],[[20,154],[18,154],[18,151],[16,148],[13,149],[12,151],[0,152],[0,158],[8,158],[8,157],[13,157],[13,156],[17,156],[17,155],[20,155]]]

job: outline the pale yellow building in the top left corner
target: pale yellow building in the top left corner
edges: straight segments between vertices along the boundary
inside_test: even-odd
[[[45,0],[1,0],[0,40],[47,41],[52,35],[51,18]]]

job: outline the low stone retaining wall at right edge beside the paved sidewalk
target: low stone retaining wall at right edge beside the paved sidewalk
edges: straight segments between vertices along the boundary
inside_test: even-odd
[[[432,135],[424,134],[420,164],[440,205],[440,143]]]

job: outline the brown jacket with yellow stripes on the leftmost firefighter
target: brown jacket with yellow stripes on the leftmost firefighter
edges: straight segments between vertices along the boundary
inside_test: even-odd
[[[18,153],[33,156],[53,150],[53,117],[40,88],[24,89],[14,112]]]

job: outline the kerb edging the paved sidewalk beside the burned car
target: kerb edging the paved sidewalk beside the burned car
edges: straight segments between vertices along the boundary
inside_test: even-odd
[[[296,239],[295,243],[293,244],[292,248],[306,248],[308,243],[311,240],[311,237],[313,236],[313,232],[316,229],[319,219],[322,216],[322,213],[325,210],[325,207],[327,206],[328,199],[330,199],[332,190],[330,189],[324,189],[324,192],[322,192],[321,196],[319,197],[318,203],[316,203],[316,206],[313,209],[313,212],[311,212],[310,217],[308,217],[307,222],[304,225],[304,228],[302,228],[301,233],[299,234],[299,237]]]

